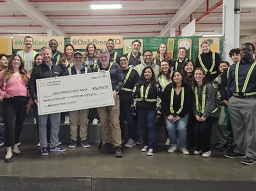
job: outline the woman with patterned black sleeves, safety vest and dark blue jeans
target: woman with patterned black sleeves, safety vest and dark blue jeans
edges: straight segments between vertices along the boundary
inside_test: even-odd
[[[155,154],[155,122],[156,118],[160,118],[162,114],[161,93],[162,88],[155,81],[153,69],[150,66],[146,66],[142,71],[139,82],[134,87],[131,111],[133,114],[137,113],[145,143],[142,151],[148,151],[148,156]]]

